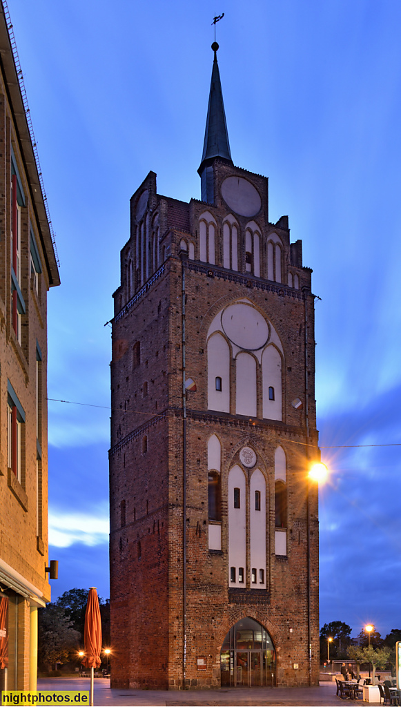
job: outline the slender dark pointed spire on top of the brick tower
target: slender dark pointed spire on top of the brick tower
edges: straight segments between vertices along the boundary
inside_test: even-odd
[[[226,114],[224,112],[223,93],[219,74],[219,64],[217,64],[217,49],[219,45],[213,42],[211,48],[214,51],[213,69],[211,71],[211,84],[209,93],[209,105],[207,107],[206,130],[204,133],[204,146],[202,162],[198,173],[202,177],[202,172],[216,158],[220,157],[233,164],[231,159],[230,143],[228,142],[228,132],[226,124]]]

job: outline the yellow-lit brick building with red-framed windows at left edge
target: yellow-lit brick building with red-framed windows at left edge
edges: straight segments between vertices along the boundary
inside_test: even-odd
[[[21,690],[35,689],[30,631],[50,601],[47,291],[59,274],[2,5],[0,165],[0,600],[8,597],[8,689]]]

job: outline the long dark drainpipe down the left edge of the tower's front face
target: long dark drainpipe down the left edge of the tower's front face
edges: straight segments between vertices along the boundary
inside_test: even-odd
[[[180,251],[182,308],[182,689],[187,672],[187,392],[185,390],[185,262],[188,253]]]

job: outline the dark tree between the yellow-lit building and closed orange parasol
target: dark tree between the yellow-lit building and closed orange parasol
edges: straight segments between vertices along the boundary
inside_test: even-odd
[[[39,609],[37,621],[37,660],[50,670],[57,663],[66,662],[79,646],[80,634],[74,629],[64,610],[56,604]]]

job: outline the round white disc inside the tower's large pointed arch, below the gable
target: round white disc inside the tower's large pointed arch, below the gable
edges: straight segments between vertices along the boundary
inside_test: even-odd
[[[269,337],[269,327],[255,307],[244,303],[229,305],[221,315],[223,331],[240,349],[257,350]]]

